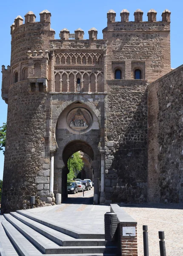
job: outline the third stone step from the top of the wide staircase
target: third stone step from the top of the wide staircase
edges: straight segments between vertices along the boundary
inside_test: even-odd
[[[11,223],[23,236],[34,244],[42,253],[45,254],[76,254],[76,253],[114,253],[116,246],[58,246],[53,241],[47,239],[37,231],[28,227],[26,224],[17,220],[10,214],[4,215],[6,220]],[[20,240],[21,241],[21,240]]]

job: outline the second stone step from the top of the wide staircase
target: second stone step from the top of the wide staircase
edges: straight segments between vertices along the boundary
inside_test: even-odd
[[[61,246],[109,246],[113,245],[112,242],[105,241],[104,239],[75,239],[71,236],[63,234],[57,230],[54,230],[50,227],[47,227],[43,224],[40,224],[36,221],[31,220],[23,215],[20,215],[17,212],[10,212],[10,214],[17,218],[22,223],[31,227],[35,231],[39,232],[43,236],[46,236],[48,239],[51,239],[55,243]]]

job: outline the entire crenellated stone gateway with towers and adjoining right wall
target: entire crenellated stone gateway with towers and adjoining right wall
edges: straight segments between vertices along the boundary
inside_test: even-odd
[[[11,65],[2,66],[8,104],[2,212],[67,197],[67,161],[83,151],[94,178],[94,204],[183,201],[183,67],[171,71],[170,15],[107,13],[97,29],[64,28],[51,13],[17,16]],[[157,79],[156,81],[154,81]]]

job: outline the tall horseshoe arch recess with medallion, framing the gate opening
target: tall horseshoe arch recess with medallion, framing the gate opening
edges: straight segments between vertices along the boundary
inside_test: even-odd
[[[89,106],[73,102],[60,114],[55,129],[57,151],[54,153],[54,194],[67,197],[66,183],[69,169],[67,161],[77,151],[86,153],[92,160],[94,173],[94,203],[98,203],[100,191],[100,125]],[[87,177],[88,178],[88,177]]]

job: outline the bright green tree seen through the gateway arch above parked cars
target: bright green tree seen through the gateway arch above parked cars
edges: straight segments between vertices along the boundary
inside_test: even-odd
[[[69,168],[69,160],[67,161],[67,167],[69,169],[69,173],[67,175],[67,180],[73,180],[77,174],[82,170],[84,163],[80,156],[79,152],[73,154],[73,158],[70,158],[70,168]]]

